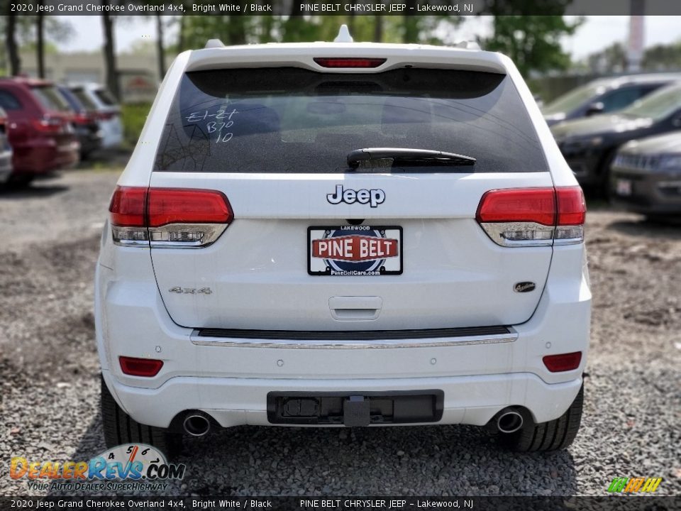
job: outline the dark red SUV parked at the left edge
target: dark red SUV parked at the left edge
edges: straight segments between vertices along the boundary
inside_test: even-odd
[[[7,113],[7,137],[13,148],[10,180],[33,177],[78,162],[74,112],[57,88],[40,79],[0,79],[0,108]]]

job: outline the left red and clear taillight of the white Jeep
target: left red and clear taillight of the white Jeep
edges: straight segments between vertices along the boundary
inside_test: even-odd
[[[206,189],[116,187],[109,211],[122,246],[209,246],[233,219],[227,197]]]

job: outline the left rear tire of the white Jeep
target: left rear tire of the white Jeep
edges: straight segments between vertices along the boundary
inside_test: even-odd
[[[118,406],[101,378],[101,424],[104,443],[109,449],[121,444],[148,444],[159,449],[167,459],[182,450],[182,435],[168,429],[136,422]]]

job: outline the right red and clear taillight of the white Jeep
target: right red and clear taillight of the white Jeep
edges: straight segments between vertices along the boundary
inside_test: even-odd
[[[486,192],[476,219],[501,246],[570,245],[584,241],[580,187],[511,188]]]

